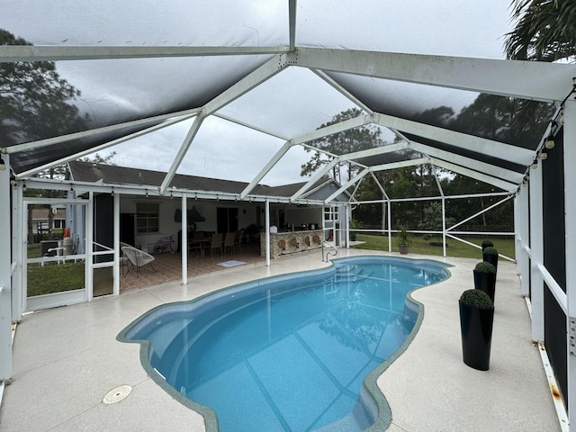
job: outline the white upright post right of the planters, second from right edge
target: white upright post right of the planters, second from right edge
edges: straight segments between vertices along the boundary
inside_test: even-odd
[[[542,164],[530,169],[530,265],[532,287],[532,340],[544,342],[544,279],[538,266],[544,265]]]

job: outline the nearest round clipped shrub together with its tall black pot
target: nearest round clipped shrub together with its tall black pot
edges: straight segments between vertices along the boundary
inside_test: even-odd
[[[487,371],[490,367],[494,305],[482,290],[466,290],[458,301],[464,364]]]

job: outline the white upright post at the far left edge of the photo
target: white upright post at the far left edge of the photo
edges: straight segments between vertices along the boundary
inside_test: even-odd
[[[12,376],[12,276],[10,238],[10,160],[1,153],[4,169],[0,170],[0,245],[4,253],[0,254],[0,381]]]

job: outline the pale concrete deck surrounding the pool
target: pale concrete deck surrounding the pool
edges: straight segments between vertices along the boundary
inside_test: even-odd
[[[357,255],[389,254],[354,249],[338,254]],[[530,338],[516,266],[499,264],[491,368],[480,372],[462,361],[457,306],[460,293],[473,287],[478,260],[429,258],[455,266],[447,281],[414,293],[425,306],[422,325],[410,347],[378,379],[392,408],[388,430],[560,431],[540,354]],[[14,382],[4,389],[0,430],[203,431],[202,417],[154,383],[139,363],[139,345],[116,341],[118,333],[165,302],[322,266],[327,265],[320,253],[283,257],[270,267],[238,266],[193,277],[187,285],[160,284],[25,315],[14,339]],[[106,393],[124,384],[132,387],[126,399],[103,404]]]

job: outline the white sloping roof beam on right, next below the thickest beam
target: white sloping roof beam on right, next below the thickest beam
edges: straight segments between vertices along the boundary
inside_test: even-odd
[[[491,157],[498,157],[519,165],[530,165],[535,157],[534,151],[528,148],[520,148],[492,139],[475,137],[466,133],[456,132],[455,130],[438,128],[436,126],[419,123],[418,121],[393,117],[392,115],[375,114],[374,121],[377,124],[394,130],[413,133],[419,137],[445,142],[455,148],[463,148]]]

